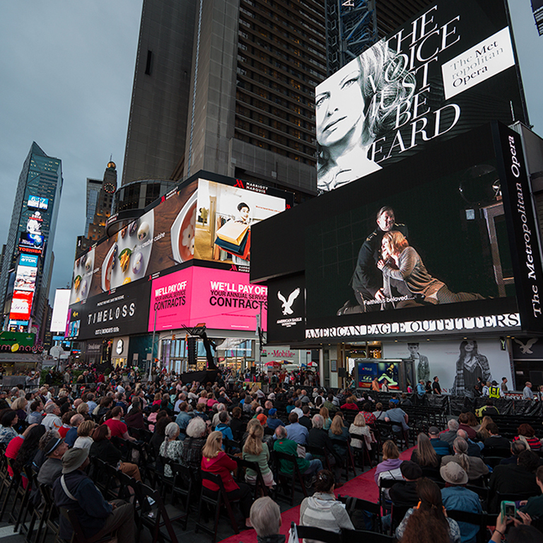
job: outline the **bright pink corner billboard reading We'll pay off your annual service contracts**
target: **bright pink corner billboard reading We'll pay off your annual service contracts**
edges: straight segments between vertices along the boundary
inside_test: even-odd
[[[153,280],[149,332],[192,327],[254,332],[257,315],[267,322],[267,287],[249,274],[192,266]],[[264,324],[265,326],[265,324]]]

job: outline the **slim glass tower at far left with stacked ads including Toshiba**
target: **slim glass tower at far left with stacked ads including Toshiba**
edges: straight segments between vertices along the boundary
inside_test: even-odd
[[[54,233],[62,194],[62,161],[33,142],[19,176],[0,274],[4,327],[40,335],[53,267]],[[29,268],[34,268],[35,271]]]

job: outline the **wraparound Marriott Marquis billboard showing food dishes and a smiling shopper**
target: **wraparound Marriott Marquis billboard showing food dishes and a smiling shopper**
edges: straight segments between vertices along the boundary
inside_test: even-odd
[[[253,225],[284,211],[291,195],[209,175],[180,185],[74,262],[70,303],[78,303],[192,259],[248,271]]]

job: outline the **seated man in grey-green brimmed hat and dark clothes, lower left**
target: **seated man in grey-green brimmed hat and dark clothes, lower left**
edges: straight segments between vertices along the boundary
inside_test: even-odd
[[[54,503],[76,512],[83,531],[91,541],[117,532],[118,543],[133,543],[134,507],[122,500],[107,502],[83,471],[88,466],[88,449],[70,449],[62,457],[62,476],[53,484]],[[61,516],[59,537],[69,541],[69,521]]]

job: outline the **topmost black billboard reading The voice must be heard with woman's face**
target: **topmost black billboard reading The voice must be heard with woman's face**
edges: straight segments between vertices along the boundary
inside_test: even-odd
[[[506,8],[439,1],[315,88],[328,191],[497,119],[527,122]]]

